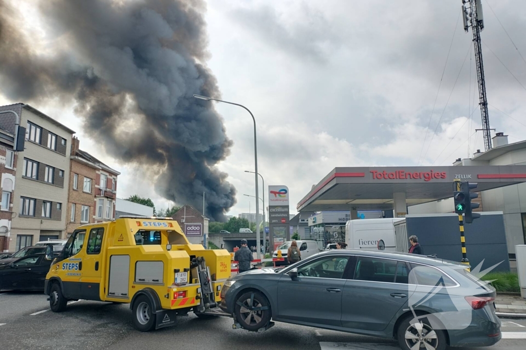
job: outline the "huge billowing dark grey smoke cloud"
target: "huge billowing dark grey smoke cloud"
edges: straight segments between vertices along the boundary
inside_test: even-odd
[[[216,165],[232,141],[213,104],[193,98],[220,97],[205,64],[204,1],[41,1],[44,47],[19,29],[20,3],[0,0],[4,96],[75,101],[86,134],[155,175],[159,195],[199,208],[206,192],[206,215],[223,219],[236,189]]]

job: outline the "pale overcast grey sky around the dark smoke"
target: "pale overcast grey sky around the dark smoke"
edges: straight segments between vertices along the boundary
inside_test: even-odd
[[[491,128],[521,141],[526,2],[483,0],[482,6]],[[259,172],[266,186],[289,187],[292,213],[336,166],[450,165],[483,151],[482,135],[475,133],[481,122],[472,33],[464,32],[460,9],[460,0],[208,2],[207,64],[222,98],[254,113]],[[11,102],[27,101],[7,100],[0,90],[0,103]],[[73,106],[33,107],[74,129],[82,149],[122,172],[118,197],[137,193],[157,207],[168,205],[148,179],[132,175],[136,166],[116,163],[83,133]],[[254,177],[244,172],[254,170],[251,118],[232,105],[216,108],[234,141],[219,165],[238,190],[229,214],[248,212],[250,202],[254,211],[254,198],[244,196],[254,195]]]

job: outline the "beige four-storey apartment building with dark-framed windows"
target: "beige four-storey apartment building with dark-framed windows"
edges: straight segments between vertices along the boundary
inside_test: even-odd
[[[16,251],[39,240],[65,238],[63,206],[68,200],[70,140],[75,132],[28,104],[2,107],[6,108],[17,112],[26,127],[24,151],[14,157],[18,171],[8,250]],[[14,133],[14,124],[7,124],[6,129]]]

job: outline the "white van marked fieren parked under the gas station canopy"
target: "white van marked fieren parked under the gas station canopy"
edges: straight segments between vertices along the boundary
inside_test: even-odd
[[[395,222],[403,218],[350,220],[345,225],[347,249],[396,251]]]

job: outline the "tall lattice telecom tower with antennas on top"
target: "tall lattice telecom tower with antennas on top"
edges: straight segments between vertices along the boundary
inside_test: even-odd
[[[484,150],[491,149],[490,119],[488,114],[488,99],[486,97],[486,83],[484,81],[484,66],[482,65],[482,47],[480,45],[480,31],[484,29],[481,0],[462,0],[462,19],[464,30],[468,33],[471,26],[473,31],[473,46],[477,63],[477,80],[479,82],[479,105],[482,116],[482,132],[484,134]]]

